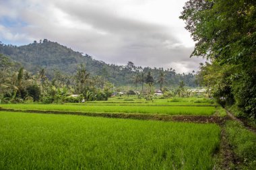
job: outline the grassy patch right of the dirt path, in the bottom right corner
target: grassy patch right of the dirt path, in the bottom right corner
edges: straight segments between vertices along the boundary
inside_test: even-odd
[[[225,130],[234,153],[242,159],[240,169],[255,169],[256,134],[236,121],[228,121]]]

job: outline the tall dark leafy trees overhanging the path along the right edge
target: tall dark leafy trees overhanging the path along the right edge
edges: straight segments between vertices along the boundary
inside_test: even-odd
[[[223,70],[224,77],[218,81],[229,82],[236,106],[252,118],[256,118],[255,5],[252,0],[189,0],[180,17],[197,42],[191,56],[236,68],[232,72]]]

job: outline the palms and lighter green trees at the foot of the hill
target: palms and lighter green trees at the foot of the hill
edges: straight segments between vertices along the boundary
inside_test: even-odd
[[[68,103],[94,100],[107,100],[114,92],[120,91],[113,83],[107,81],[104,75],[91,75],[85,65],[78,65],[74,75],[63,75],[55,71],[51,79],[47,77],[47,70],[40,69],[37,73],[30,73],[20,63],[10,60],[0,54],[0,100],[1,103]],[[129,67],[132,62],[129,62]],[[20,68],[20,69],[18,69]],[[185,91],[185,83],[181,81],[179,87],[169,90],[166,85],[166,75],[159,72],[159,79],[154,79],[150,71],[143,69],[135,72],[135,87],[123,91],[128,95],[151,100],[158,86],[164,92],[164,97],[189,95]],[[155,84],[154,84],[155,83]],[[141,85],[141,89],[137,86]]]

